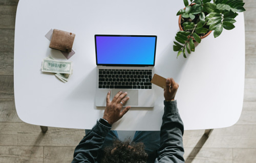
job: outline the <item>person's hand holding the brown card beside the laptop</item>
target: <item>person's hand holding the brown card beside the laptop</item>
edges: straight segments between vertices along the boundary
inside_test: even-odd
[[[168,101],[174,100],[178,88],[179,88],[179,85],[174,81],[173,78],[166,78],[166,89],[164,89],[164,94],[163,94],[165,100],[168,100]]]

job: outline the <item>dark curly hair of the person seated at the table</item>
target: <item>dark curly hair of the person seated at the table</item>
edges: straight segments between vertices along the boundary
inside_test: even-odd
[[[131,140],[121,142],[115,140],[113,146],[104,149],[102,163],[146,163],[147,153],[143,143],[135,143]]]

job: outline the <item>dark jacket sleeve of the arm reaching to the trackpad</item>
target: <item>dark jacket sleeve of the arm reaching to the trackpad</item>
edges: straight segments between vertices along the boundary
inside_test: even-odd
[[[105,126],[97,121],[93,129],[86,134],[77,145],[72,163],[97,162],[97,157],[106,135],[111,127]]]

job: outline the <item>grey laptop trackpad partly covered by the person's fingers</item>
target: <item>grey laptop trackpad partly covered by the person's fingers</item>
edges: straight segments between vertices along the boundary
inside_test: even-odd
[[[126,96],[129,96],[129,100],[124,104],[124,106],[138,106],[139,104],[139,90],[125,90],[125,89],[113,89],[111,90],[111,100],[119,92],[127,92]]]

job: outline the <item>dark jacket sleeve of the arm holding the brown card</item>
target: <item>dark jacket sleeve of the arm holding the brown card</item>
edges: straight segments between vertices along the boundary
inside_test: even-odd
[[[178,113],[177,101],[164,101],[162,120],[159,155],[155,162],[184,162],[184,127]]]

